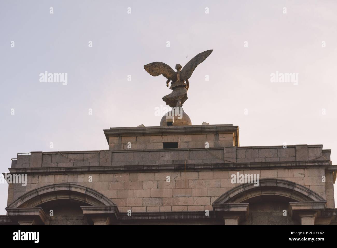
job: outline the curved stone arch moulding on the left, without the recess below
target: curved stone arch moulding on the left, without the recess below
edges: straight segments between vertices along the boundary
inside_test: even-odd
[[[42,203],[60,199],[84,202],[91,206],[115,206],[108,197],[94,189],[60,183],[31,190],[13,201],[7,208],[34,208]]]

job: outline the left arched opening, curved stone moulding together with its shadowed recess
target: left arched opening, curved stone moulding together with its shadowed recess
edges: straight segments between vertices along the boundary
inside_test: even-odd
[[[12,214],[13,220],[18,222],[27,219],[28,212],[34,212],[30,223],[85,225],[90,223],[81,209],[84,206],[109,207],[115,204],[103,194],[88,187],[52,184],[27,192],[12,202],[6,210]]]

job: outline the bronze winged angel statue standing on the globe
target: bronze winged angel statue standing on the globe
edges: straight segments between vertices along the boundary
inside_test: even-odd
[[[194,58],[192,58],[188,63],[182,68],[180,64],[176,64],[175,72],[171,66],[163,62],[152,62],[144,65],[145,71],[147,71],[151,76],[159,76],[162,74],[167,78],[166,86],[171,82],[172,89],[171,94],[165,95],[163,101],[170,107],[182,107],[183,103],[187,100],[187,90],[189,87],[188,79],[192,76],[195,67],[203,62],[213,50],[207,50],[205,52],[199,53]],[[186,81],[186,83],[185,83]]]

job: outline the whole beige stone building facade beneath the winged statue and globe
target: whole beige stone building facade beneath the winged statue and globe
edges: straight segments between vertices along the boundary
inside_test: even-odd
[[[12,159],[9,173],[27,174],[27,185],[9,184],[0,223],[337,223],[337,166],[323,145],[240,147],[233,125],[104,134],[107,150],[36,151]]]

